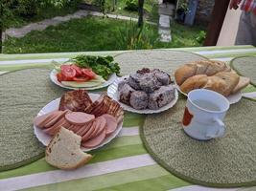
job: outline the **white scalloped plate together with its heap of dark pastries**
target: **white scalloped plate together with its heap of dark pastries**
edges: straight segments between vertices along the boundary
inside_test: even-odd
[[[107,95],[118,101],[124,110],[138,114],[166,111],[178,99],[171,76],[159,69],[149,68],[117,78],[108,87]]]

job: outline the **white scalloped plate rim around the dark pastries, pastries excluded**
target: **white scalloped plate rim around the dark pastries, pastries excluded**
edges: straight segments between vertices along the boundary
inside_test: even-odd
[[[111,98],[113,98],[114,100],[116,100],[121,107],[128,111],[128,112],[132,112],[132,113],[137,113],[137,114],[155,114],[155,113],[160,113],[160,112],[164,112],[172,107],[174,107],[177,99],[178,99],[178,93],[177,90],[175,89],[175,99],[172,100],[170,103],[168,103],[167,105],[159,108],[158,110],[151,110],[151,109],[145,109],[145,110],[136,110],[130,106],[128,106],[125,103],[122,103],[119,101],[119,94],[117,91],[117,87],[118,87],[118,83],[123,80],[124,78],[128,77],[128,75],[123,76],[123,77],[118,77],[108,88],[107,88],[107,96],[110,96]]]

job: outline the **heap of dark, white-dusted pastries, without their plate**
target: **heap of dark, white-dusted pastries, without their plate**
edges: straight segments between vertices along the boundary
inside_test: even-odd
[[[157,110],[175,98],[169,74],[143,68],[118,84],[119,100],[136,110]]]

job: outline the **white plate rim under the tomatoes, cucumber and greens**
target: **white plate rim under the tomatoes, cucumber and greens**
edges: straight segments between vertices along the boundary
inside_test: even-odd
[[[65,86],[63,84],[61,84],[58,79],[56,74],[58,74],[57,70],[52,70],[51,74],[50,74],[50,78],[52,80],[52,82],[54,82],[56,85],[62,87],[62,88],[66,88],[66,89],[70,89],[70,90],[78,90],[78,89],[84,89],[84,90],[96,90],[96,89],[100,89],[100,88],[105,88],[106,86],[109,86],[110,84],[112,84],[115,79],[116,79],[116,74],[110,74],[110,76],[108,77],[107,81],[105,81],[105,83],[99,85],[99,86],[94,86],[94,87],[89,87],[89,88],[75,88],[75,87],[70,87],[70,86]]]

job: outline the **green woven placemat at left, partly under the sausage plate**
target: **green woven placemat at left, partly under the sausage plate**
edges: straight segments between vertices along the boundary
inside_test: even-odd
[[[0,75],[0,171],[44,156],[33,119],[44,105],[63,94],[49,74],[49,70],[28,69]]]

